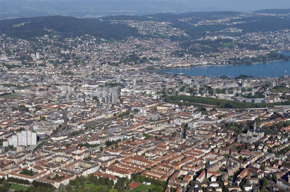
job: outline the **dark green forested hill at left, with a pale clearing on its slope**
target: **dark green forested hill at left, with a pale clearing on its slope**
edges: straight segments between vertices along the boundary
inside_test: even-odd
[[[44,28],[52,29],[48,32]],[[127,25],[116,24],[99,19],[79,19],[68,16],[43,16],[0,20],[2,34],[16,38],[33,38],[44,34],[61,34],[63,36],[92,35],[96,38],[122,39],[138,36],[138,30]]]

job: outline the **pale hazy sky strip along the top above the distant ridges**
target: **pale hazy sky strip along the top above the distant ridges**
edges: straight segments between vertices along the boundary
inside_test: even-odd
[[[17,7],[18,3],[15,2],[22,2],[23,4],[25,0],[0,0],[0,2],[5,2]],[[255,10],[261,9],[287,9],[290,8],[290,0],[26,0],[29,1],[43,1],[43,2],[57,2],[57,1],[75,1],[78,3],[83,3],[86,5],[93,5],[98,6],[101,4],[106,4],[112,6],[112,10],[118,9],[117,4],[124,4],[126,5],[136,5],[142,6],[142,4],[156,4],[158,7],[158,3],[168,3],[169,7],[174,9],[174,5],[178,5],[177,7],[185,7],[185,8],[192,8],[193,11],[220,11],[220,10],[233,10],[233,11],[244,11],[244,12],[251,12]],[[117,2],[116,4],[114,2]],[[34,2],[35,3],[35,2]],[[77,4],[78,4],[77,3]],[[61,3],[62,4],[62,3]],[[111,8],[111,7],[110,7]],[[162,10],[161,10],[162,11]]]

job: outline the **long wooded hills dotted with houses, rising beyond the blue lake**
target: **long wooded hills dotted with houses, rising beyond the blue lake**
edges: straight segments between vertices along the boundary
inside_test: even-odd
[[[251,32],[267,32],[277,31],[283,29],[290,29],[290,17],[289,16],[267,16],[252,14],[248,17],[239,17],[240,12],[190,12],[182,14],[151,14],[144,16],[107,16],[100,19],[104,21],[124,21],[124,20],[137,20],[137,21],[157,21],[157,22],[170,22],[171,26],[184,30],[187,37],[171,37],[172,40],[186,40],[186,39],[198,39],[206,35],[236,35],[233,33],[222,33],[220,31],[229,27],[235,27],[241,29],[239,34],[251,33]],[[237,16],[237,17],[236,17]],[[186,20],[184,19],[186,18]],[[205,20],[218,20],[229,19],[228,23],[213,23],[211,25],[196,25],[199,21]]]

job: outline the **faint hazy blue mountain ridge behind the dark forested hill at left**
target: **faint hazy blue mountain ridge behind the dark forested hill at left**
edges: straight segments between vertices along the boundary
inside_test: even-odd
[[[64,15],[94,17],[198,10],[174,0],[0,0],[0,19]],[[11,11],[13,10],[13,11]]]

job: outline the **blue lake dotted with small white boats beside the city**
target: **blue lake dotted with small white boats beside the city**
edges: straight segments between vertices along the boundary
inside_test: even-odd
[[[290,52],[281,54],[290,56]],[[258,63],[250,65],[220,65],[220,66],[198,66],[182,69],[163,69],[158,70],[163,73],[172,72],[173,74],[183,75],[207,75],[210,77],[227,75],[235,77],[239,75],[253,75],[254,77],[280,77],[282,75],[290,76],[290,61],[275,61],[268,63]]]

